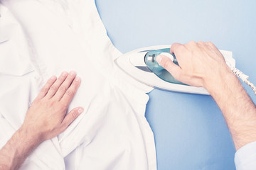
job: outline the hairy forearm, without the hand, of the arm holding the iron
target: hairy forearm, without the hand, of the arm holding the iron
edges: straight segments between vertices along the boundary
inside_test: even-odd
[[[240,149],[256,141],[256,107],[229,69],[223,69],[219,75],[207,88],[223,112],[235,148]]]

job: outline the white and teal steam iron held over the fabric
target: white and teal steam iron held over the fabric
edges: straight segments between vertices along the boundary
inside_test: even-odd
[[[167,72],[164,67],[161,67],[156,62],[158,55],[165,55],[169,57],[175,64],[178,65],[174,54],[170,53],[171,45],[157,45],[151,47],[144,47],[132,52],[127,52],[121,57],[117,58],[115,62],[131,77],[137,81],[142,82],[148,86],[156,89],[166,91],[178,91],[188,94],[206,94],[208,91],[203,87],[189,86],[183,84],[181,81],[174,79],[174,77]],[[232,52],[220,50],[225,57],[225,61],[235,67],[235,60],[232,57]]]

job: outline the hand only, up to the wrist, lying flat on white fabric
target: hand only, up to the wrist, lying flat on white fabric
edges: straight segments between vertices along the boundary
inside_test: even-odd
[[[23,128],[40,140],[48,140],[68,128],[83,111],[74,108],[65,115],[80,85],[80,78],[75,76],[75,72],[63,72],[57,80],[51,77],[28,109]]]

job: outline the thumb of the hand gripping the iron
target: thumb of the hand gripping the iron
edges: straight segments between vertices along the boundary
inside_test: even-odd
[[[181,75],[181,67],[178,67],[178,65],[174,64],[174,62],[169,59],[169,57],[166,57],[164,55],[158,55],[156,57],[156,61],[164,67],[175,79],[178,79]]]

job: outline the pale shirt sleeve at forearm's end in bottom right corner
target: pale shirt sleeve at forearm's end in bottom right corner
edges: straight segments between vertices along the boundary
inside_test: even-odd
[[[256,141],[238,149],[235,153],[235,166],[237,170],[256,169]]]

